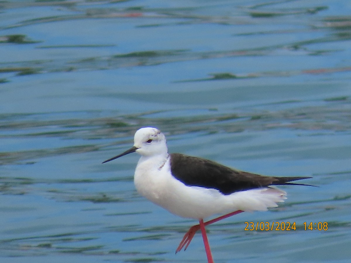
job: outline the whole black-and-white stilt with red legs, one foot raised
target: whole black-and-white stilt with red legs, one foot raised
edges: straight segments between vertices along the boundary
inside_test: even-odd
[[[132,148],[103,163],[134,151],[141,155],[134,174],[138,193],[175,215],[199,220],[184,235],[176,253],[186,249],[200,229],[209,263],[213,258],[206,225],[244,211],[277,207],[286,199],[286,193],[271,186],[308,185],[290,182],[311,178],[262,176],[198,157],[168,154],[164,134],[152,127],[137,130]],[[225,214],[231,211],[234,212]],[[225,215],[204,222],[204,218],[214,214]]]

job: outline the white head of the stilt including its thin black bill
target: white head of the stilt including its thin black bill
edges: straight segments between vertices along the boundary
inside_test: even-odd
[[[137,130],[134,135],[134,146],[124,153],[112,157],[104,161],[103,163],[112,161],[126,154],[134,153],[136,151],[138,154],[143,156],[155,156],[155,155],[167,155],[167,144],[166,137],[160,130],[153,127],[144,127]]]

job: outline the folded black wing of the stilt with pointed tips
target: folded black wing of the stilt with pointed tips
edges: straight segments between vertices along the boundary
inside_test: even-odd
[[[172,175],[186,186],[214,188],[224,195],[271,185],[294,184],[289,182],[311,178],[251,174],[210,160],[183,154],[171,154],[171,171]]]

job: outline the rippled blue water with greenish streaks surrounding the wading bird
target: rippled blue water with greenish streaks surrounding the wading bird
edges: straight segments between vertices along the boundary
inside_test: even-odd
[[[350,10],[346,0],[1,2],[0,261],[206,262],[200,234],[174,254],[196,222],[137,194],[137,154],[101,164],[156,126],[170,152],[319,186],[281,187],[278,208],[208,226],[216,262],[349,262]]]

